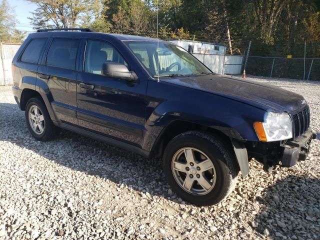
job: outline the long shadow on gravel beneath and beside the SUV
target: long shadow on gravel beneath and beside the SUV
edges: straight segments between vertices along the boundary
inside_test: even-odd
[[[0,103],[0,141],[9,141],[60,165],[107,178],[141,193],[183,202],[169,190],[162,172],[161,159],[145,158],[63,129],[54,140],[37,141],[26,127],[24,111],[20,111],[16,104]]]

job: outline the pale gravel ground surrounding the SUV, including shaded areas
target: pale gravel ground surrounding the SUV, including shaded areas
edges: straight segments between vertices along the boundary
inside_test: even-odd
[[[0,86],[1,239],[319,239],[320,82],[253,78],[302,94],[317,132],[304,162],[268,174],[255,161],[215,206],[166,184],[160,162],[62,131],[35,141]]]

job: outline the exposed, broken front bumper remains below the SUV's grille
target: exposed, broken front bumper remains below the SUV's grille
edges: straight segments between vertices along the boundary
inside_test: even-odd
[[[283,148],[281,165],[290,167],[295,165],[297,161],[305,160],[309,152],[311,140],[314,138],[315,133],[309,128],[304,134],[296,139],[281,144],[281,147]]]

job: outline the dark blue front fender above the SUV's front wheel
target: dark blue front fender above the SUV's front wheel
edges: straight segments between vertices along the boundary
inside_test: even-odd
[[[214,128],[238,140],[258,140],[253,122],[263,121],[265,110],[234,99],[173,84],[163,84],[163,89],[161,88],[161,82],[156,88],[149,88],[152,93],[149,95],[152,97],[147,97],[142,143],[144,149],[151,150],[161,131],[174,120]]]

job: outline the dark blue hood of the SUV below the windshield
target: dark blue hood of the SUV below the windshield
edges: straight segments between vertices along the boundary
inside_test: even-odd
[[[240,77],[214,74],[175,76],[161,80],[228,97],[267,111],[291,112],[306,105],[299,94]]]

